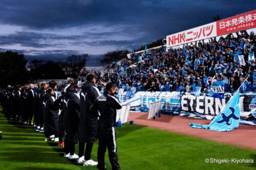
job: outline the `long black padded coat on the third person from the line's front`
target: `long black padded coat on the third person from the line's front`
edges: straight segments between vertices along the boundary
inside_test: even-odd
[[[79,137],[80,99],[73,85],[69,85],[66,88],[62,105],[64,114],[65,143],[77,143]]]

